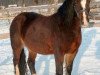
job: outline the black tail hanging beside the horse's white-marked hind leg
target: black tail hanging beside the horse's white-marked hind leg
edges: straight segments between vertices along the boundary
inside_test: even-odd
[[[20,54],[20,60],[19,60],[19,71],[20,71],[20,75],[25,75],[26,72],[26,56],[25,56],[25,52],[24,49],[22,49],[22,52]]]

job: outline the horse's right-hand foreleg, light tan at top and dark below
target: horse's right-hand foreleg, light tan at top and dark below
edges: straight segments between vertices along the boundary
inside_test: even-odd
[[[66,63],[66,75],[71,75],[72,67],[73,67],[73,60],[76,56],[77,51],[74,53],[69,53],[65,55],[65,63]]]

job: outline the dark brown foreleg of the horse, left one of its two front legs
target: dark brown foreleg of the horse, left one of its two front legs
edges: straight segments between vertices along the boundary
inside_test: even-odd
[[[55,63],[56,63],[56,75],[63,75],[63,61],[64,55],[59,51],[56,51],[55,54]]]

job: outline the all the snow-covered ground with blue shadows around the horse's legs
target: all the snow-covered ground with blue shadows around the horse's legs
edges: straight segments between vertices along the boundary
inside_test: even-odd
[[[0,75],[14,75],[12,56],[10,39],[0,40]],[[35,67],[37,75],[55,75],[54,56],[38,54]],[[72,75],[100,75],[100,27],[82,28]]]

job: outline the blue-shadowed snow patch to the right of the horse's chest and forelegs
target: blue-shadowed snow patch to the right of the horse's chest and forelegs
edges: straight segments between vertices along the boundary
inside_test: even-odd
[[[72,74],[100,75],[100,28],[83,29],[82,37]]]

